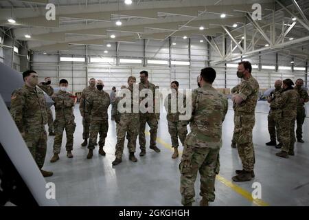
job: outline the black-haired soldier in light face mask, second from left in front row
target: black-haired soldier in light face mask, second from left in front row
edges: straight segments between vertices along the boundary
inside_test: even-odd
[[[56,111],[56,119],[54,122],[55,126],[55,139],[54,139],[54,156],[50,160],[50,162],[54,163],[59,159],[59,153],[62,145],[62,135],[65,130],[67,135],[67,144],[65,148],[67,150],[67,157],[72,158],[72,150],[73,150],[73,133],[76,128],[76,124],[74,122],[74,113],[73,107],[75,105],[76,96],[73,96],[71,93],[67,91],[69,83],[67,80],[62,79],[59,82],[60,90],[57,93],[54,93],[52,99],[54,100],[55,111]]]

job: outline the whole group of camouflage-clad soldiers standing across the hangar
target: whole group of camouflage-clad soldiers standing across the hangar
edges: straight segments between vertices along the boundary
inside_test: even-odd
[[[233,181],[249,181],[255,177],[254,164],[255,153],[253,146],[253,127],[255,125],[255,107],[258,102],[259,84],[251,75],[251,63],[242,61],[238,63],[238,78],[242,82],[232,89],[232,100],[234,113],[234,133],[232,146],[238,148],[238,155],[242,161],[242,169],[236,170],[236,176]],[[172,81],[170,87],[172,94],[169,94],[164,100],[164,106],[167,111],[168,131],[171,136],[174,153],[172,158],[179,157],[179,140],[184,146],[179,170],[181,173],[181,203],[184,206],[192,206],[194,201],[194,182],[197,173],[201,175],[201,192],[203,199],[201,206],[208,206],[208,203],[214,201],[214,184],[216,175],[219,173],[219,151],[222,146],[222,123],[227,114],[227,97],[218,92],[212,86],[216,79],[216,71],[210,67],[201,70],[197,78],[198,89],[192,91],[191,108],[192,114],[190,120],[181,120],[178,100],[186,103],[186,96],[179,92],[179,83]],[[67,135],[67,157],[72,158],[73,133],[76,128],[74,122],[73,107],[76,104],[76,96],[67,91],[68,82],[65,79],[60,80],[59,90],[54,92],[50,86],[50,78],[45,78],[45,82],[38,85],[38,74],[30,70],[23,73],[24,87],[16,89],[12,93],[11,113],[12,118],[23,136],[32,156],[34,157],[38,168],[40,168],[44,177],[53,175],[52,172],[42,170],[45,154],[47,134],[45,124],[49,118],[49,135],[55,135],[54,155],[50,162],[56,162],[59,159],[60,148],[62,144],[62,134],[64,130]],[[156,86],[148,81],[148,72],[140,72],[141,83],[138,84],[138,90],[149,89],[155,94]],[[304,82],[303,82],[304,83]],[[299,80],[297,80],[299,85]],[[36,87],[38,85],[38,87]],[[140,153],[142,157],[146,155],[146,123],[150,126],[150,149],[159,153],[157,147],[157,129],[158,114],[155,112],[155,96],[153,105],[146,106],[152,111],[134,111],[135,104],[139,105],[147,96],[136,99],[133,94],[133,88],[136,85],[136,78],[128,77],[128,86],[122,87],[130,91],[130,97],[115,96],[115,88],[108,95],[103,90],[102,80],[89,80],[89,87],[82,91],[80,99],[80,113],[82,115],[83,133],[82,146],[87,146],[89,153],[87,159],[93,157],[95,145],[99,145],[98,153],[106,155],[104,152],[105,138],[108,131],[108,107],[112,108],[112,120],[117,123],[117,144],[115,145],[115,160],[113,166],[122,162],[125,139],[128,140],[129,159],[137,162],[135,157],[137,136],[139,137]],[[282,144],[282,151],[277,153],[280,157],[293,155],[295,143],[294,126],[297,120],[297,127],[304,123],[304,102],[308,101],[308,95],[305,97],[301,87],[292,87],[293,81],[286,79],[275,83],[275,91],[268,102],[271,103],[271,111],[268,115],[268,128],[271,130],[271,123],[277,128],[277,137]],[[50,109],[46,106],[43,91],[54,100],[56,111],[56,120],[52,124]],[[299,92],[302,94],[299,98]],[[129,111],[120,113],[119,102],[126,98],[130,100],[131,106],[127,106]],[[176,112],[171,111],[172,99],[176,98]],[[147,102],[148,103],[148,102]],[[147,104],[146,104],[147,105]],[[301,112],[301,117],[298,117]],[[48,116],[48,117],[47,117]],[[187,134],[187,125],[190,124],[190,133]],[[293,131],[293,132],[292,132]],[[301,140],[301,129],[297,129],[297,139]],[[293,137],[294,133],[294,137]],[[97,143],[98,134],[100,135]],[[275,140],[275,133],[271,133],[271,142]]]

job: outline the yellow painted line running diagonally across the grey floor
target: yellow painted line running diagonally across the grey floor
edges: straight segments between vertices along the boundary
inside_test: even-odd
[[[148,131],[145,131],[145,134],[150,135],[150,133]],[[170,144],[166,143],[160,137],[157,137],[157,142],[159,144],[161,144],[162,146],[164,146],[165,148],[168,148],[170,151],[173,151],[172,146]],[[179,155],[181,155],[181,154],[182,154],[182,152],[179,151]],[[269,206],[269,204],[266,203],[265,201],[263,201],[262,199],[253,199],[251,192],[248,192],[247,190],[241,188],[240,186],[233,184],[231,181],[225,179],[225,177],[217,175],[216,179],[218,181],[220,181],[221,184],[231,188],[231,190],[233,190],[234,192],[237,192],[239,195],[241,195],[245,199],[255,203],[255,205],[257,205],[257,206]]]

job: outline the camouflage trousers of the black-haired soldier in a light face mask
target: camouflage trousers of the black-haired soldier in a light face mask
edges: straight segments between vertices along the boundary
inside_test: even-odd
[[[62,121],[55,120],[54,126],[55,126],[54,127],[55,139],[54,139],[53,153],[60,153],[61,151],[63,131],[65,131],[67,135],[67,144],[65,145],[65,149],[67,151],[72,151],[73,150],[73,133],[76,128],[75,122],[74,121],[62,122]]]

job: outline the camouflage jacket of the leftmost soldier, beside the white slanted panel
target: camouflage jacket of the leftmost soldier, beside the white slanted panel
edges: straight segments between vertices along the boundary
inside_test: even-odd
[[[21,133],[37,133],[47,123],[46,102],[39,87],[27,85],[15,89],[11,96],[10,111]]]

